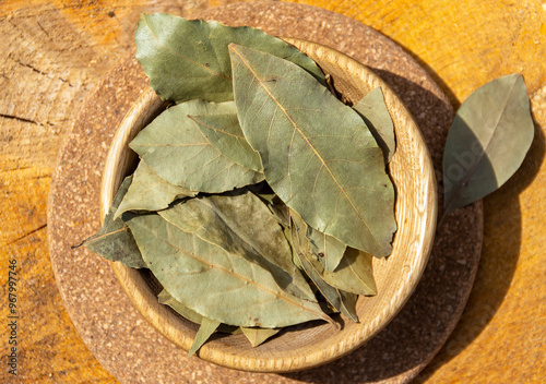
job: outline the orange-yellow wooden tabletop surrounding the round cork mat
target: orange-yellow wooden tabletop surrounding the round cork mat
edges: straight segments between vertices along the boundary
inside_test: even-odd
[[[0,7],[0,260],[5,265],[14,257],[26,265],[22,302],[34,315],[22,340],[17,383],[115,382],[80,340],[55,289],[43,226],[56,154],[92,85],[132,49],[141,11],[189,14],[224,3],[21,0]],[[542,116],[537,137],[544,137],[541,89],[546,71],[539,58],[545,57],[546,23],[539,1],[306,3],[344,13],[403,45],[436,76],[455,107],[477,86],[502,74],[523,73],[533,108],[542,110],[535,118]],[[541,215],[544,145],[534,147],[525,167],[523,181],[518,179],[486,199],[486,243],[476,288],[461,325],[419,381],[539,383],[544,379],[546,265],[539,261],[546,232]],[[501,209],[507,201],[508,211]],[[5,279],[2,273],[2,289]],[[0,331],[2,340],[5,332],[5,327]],[[4,350],[1,344],[2,356]]]

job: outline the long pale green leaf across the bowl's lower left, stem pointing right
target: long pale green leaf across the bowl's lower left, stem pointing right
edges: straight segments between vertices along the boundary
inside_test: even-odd
[[[157,214],[126,215],[155,277],[177,301],[201,315],[245,327],[311,320],[333,324],[318,303],[285,292],[257,264],[180,230]]]

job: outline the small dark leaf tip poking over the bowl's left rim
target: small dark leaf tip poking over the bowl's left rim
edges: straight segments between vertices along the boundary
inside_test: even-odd
[[[121,218],[114,219],[118,205],[131,185],[131,180],[130,176],[121,183],[104,219],[103,228],[81,245],[112,262],[120,262],[131,268],[143,268],[146,264],[142,260],[129,227]]]

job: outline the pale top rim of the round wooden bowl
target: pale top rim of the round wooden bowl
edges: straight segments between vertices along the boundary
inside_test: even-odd
[[[343,62],[346,71],[355,71],[359,73],[361,79],[366,79],[368,84],[373,87],[380,86],[383,91],[385,98],[385,104],[388,106],[396,106],[395,110],[389,111],[392,113],[399,113],[407,122],[407,130],[412,134],[412,140],[417,143],[417,145],[423,148],[419,153],[420,164],[423,165],[423,173],[426,178],[426,201],[428,202],[428,212],[424,216],[425,232],[422,233],[423,243],[420,244],[420,252],[418,254],[420,257],[414,260],[414,263],[410,267],[410,273],[407,273],[407,280],[404,286],[396,290],[396,295],[390,300],[390,305],[383,308],[378,321],[375,324],[363,325],[358,331],[354,332],[351,337],[347,337],[343,343],[332,344],[320,350],[309,351],[307,356],[301,358],[254,358],[254,357],[239,357],[235,355],[227,356],[222,350],[215,350],[210,344],[205,344],[201,347],[199,357],[203,360],[216,363],[218,365],[238,369],[251,372],[293,372],[304,369],[310,369],[332,360],[343,357],[349,353],[354,349],[360,347],[377,333],[379,333],[403,308],[407,299],[414,291],[417,283],[419,281],[423,272],[426,267],[428,256],[432,247],[434,233],[436,230],[436,219],[437,219],[437,193],[436,193],[436,178],[432,167],[432,161],[428,154],[423,135],[416,125],[411,113],[404,107],[402,101],[393,93],[392,89],[371,70],[367,69],[364,64],[355,61],[354,59],[347,57],[346,55],[336,51],[333,48],[325,47],[316,43],[304,41],[293,38],[284,38],[287,43],[290,43],[298,48],[301,44],[310,45],[313,47],[316,52],[334,52],[339,57],[340,61]],[[119,125],[116,135],[112,140],[112,145],[108,152],[107,160],[105,164],[105,171],[102,180],[100,189],[100,217],[104,219],[105,213],[108,211],[111,199],[115,195],[119,183],[116,185],[115,172],[119,165],[119,158],[121,154],[128,149],[128,143],[132,140],[131,128],[138,123],[139,117],[142,110],[159,110],[165,108],[166,103],[162,101],[159,97],[155,94],[152,88],[147,88],[134,103],[134,105],[127,112],[126,118]],[[394,117],[393,117],[394,120]],[[136,130],[136,131],[140,131]],[[399,135],[396,131],[396,136]],[[395,239],[393,240],[394,243]],[[185,350],[188,350],[193,340],[192,337],[182,334],[176,324],[180,321],[171,311],[167,310],[164,305],[159,304],[157,298],[152,293],[147,283],[144,280],[143,276],[138,269],[128,268],[119,262],[110,263],[116,278],[120,283],[121,287],[128,295],[130,301],[139,310],[139,312],[164,336],[169,340],[175,343],[177,346]],[[146,289],[147,287],[147,289]],[[369,328],[372,328],[371,331]]]

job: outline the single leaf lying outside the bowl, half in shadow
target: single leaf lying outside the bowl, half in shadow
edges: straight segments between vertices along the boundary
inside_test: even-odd
[[[534,125],[520,74],[476,89],[462,104],[443,152],[444,214],[502,185],[521,166]]]

